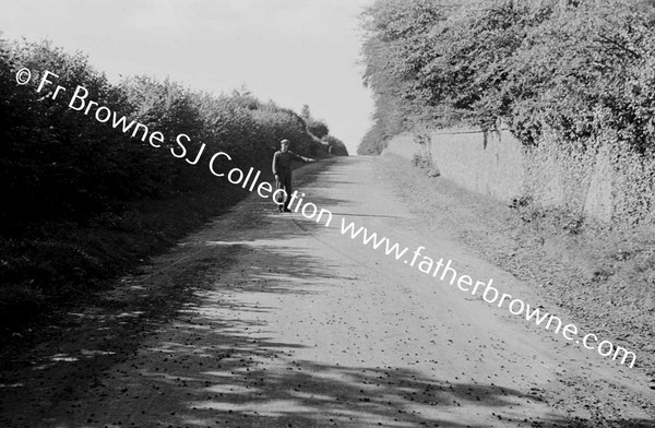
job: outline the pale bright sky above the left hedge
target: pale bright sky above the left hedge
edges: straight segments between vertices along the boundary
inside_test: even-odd
[[[350,154],[372,102],[357,66],[357,15],[372,0],[0,0],[3,38],[82,50],[110,81],[169,76],[262,100],[310,106]]]

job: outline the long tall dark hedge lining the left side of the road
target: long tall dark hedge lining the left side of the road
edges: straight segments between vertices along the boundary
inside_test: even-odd
[[[241,166],[267,164],[271,146],[283,138],[300,153],[314,155],[322,147],[300,116],[273,103],[262,104],[245,88],[230,96],[212,96],[151,76],[110,84],[85,55],[68,54],[49,41],[4,43],[1,49],[3,233],[21,233],[43,221],[84,223],[129,201],[214,186],[217,178],[209,168],[171,155],[180,133],[191,140],[188,158],[193,159],[204,143],[206,153],[223,150]],[[33,70],[36,84],[45,70],[56,73],[58,78],[50,80],[67,92],[51,99],[47,95],[55,85],[40,94],[36,84],[17,85],[19,64]],[[68,103],[78,85],[88,90],[87,99],[126,116],[128,122],[135,120],[151,132],[162,132],[166,138],[162,147],[142,141],[142,133],[130,138],[131,132],[98,122],[95,109],[88,115],[71,109]]]

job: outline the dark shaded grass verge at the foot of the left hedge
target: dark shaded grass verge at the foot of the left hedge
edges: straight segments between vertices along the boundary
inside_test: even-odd
[[[217,180],[203,192],[126,204],[85,224],[46,223],[0,241],[0,337],[80,305],[249,192]]]

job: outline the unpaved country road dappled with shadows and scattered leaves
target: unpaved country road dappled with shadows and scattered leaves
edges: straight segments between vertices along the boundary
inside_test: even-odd
[[[55,344],[2,373],[0,425],[655,426],[638,369],[343,236],[342,217],[538,301],[413,216],[376,162],[297,174],[331,227],[253,194],[69,314]]]

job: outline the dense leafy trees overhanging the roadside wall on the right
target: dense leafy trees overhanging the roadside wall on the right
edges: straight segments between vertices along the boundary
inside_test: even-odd
[[[464,3],[463,3],[464,4]],[[572,150],[616,135],[645,153],[655,126],[651,1],[378,0],[362,14],[364,81],[376,96],[359,153],[417,123],[499,119],[527,145]]]

